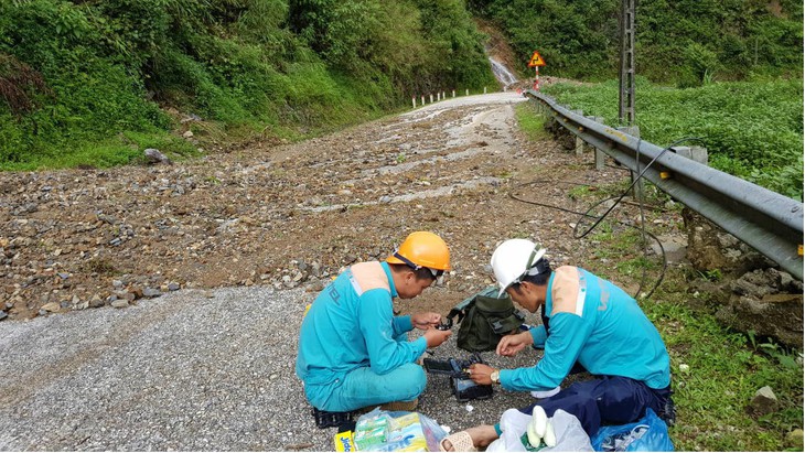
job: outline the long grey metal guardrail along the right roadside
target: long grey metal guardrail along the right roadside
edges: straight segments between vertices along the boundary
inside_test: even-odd
[[[642,172],[663,152],[656,144],[573,114],[541,93],[525,94],[547,106],[570,132],[633,172]],[[643,177],[803,280],[802,203],[674,152],[657,158]]]

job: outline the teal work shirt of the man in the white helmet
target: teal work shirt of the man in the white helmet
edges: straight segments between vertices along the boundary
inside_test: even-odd
[[[576,362],[592,375],[623,376],[654,389],[668,387],[668,353],[637,302],[611,282],[576,269],[577,290],[562,294],[565,300],[577,300],[576,312],[552,313],[554,272],[545,301],[549,332],[544,326],[530,330],[534,344],[545,345],[545,355],[534,367],[502,370],[503,387],[550,390],[561,384]]]

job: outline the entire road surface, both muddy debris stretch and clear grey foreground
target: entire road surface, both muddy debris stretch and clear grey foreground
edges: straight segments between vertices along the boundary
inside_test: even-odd
[[[525,140],[524,100],[450,99],[196,162],[0,175],[0,450],[331,450],[293,360],[304,305],[342,267],[433,230],[453,270],[397,308],[447,313],[492,282],[505,238],[541,241],[555,265],[589,258],[578,216],[509,192],[547,181],[517,190],[578,209],[559,182],[623,172]],[[462,429],[528,398],[468,407],[430,379],[420,411]]]

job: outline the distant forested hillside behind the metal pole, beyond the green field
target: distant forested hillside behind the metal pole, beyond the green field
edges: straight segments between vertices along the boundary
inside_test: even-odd
[[[797,0],[641,0],[637,73],[655,82],[802,77],[803,3]],[[471,0],[498,23],[525,63],[538,50],[545,74],[618,76],[619,0]]]

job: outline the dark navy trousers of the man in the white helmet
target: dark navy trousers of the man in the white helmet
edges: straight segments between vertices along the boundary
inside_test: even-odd
[[[653,389],[640,380],[621,376],[603,376],[575,382],[550,398],[519,409],[532,414],[534,406],[541,406],[548,417],[557,409],[576,416],[591,438],[602,424],[625,424],[638,420],[646,408],[662,413],[670,397],[670,387]]]

